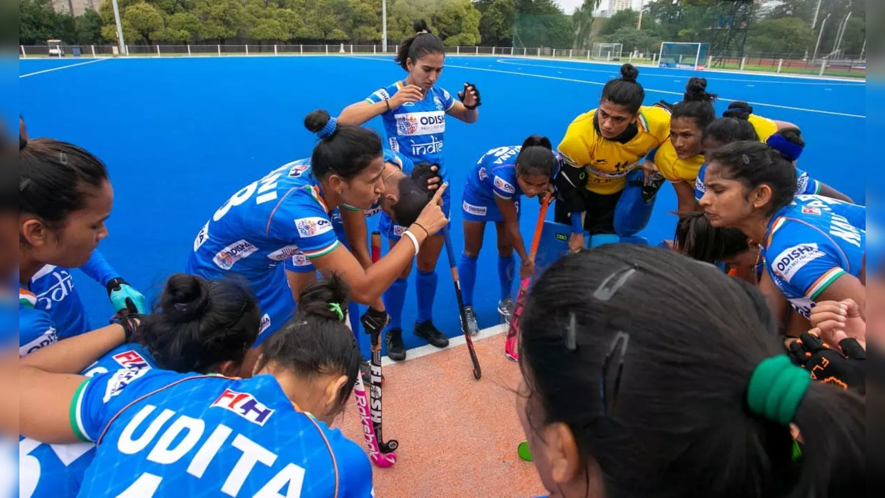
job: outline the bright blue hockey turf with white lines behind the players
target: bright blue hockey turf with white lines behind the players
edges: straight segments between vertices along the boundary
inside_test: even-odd
[[[135,287],[153,295],[181,271],[194,235],[221,203],[250,181],[290,160],[308,157],[314,139],[302,125],[316,108],[333,114],[404,77],[385,57],[194,57],[24,59],[19,61],[19,109],[32,136],[77,143],[108,165],[116,199],[101,250]],[[464,81],[481,88],[480,121],[449,120],[445,151],[452,177],[453,230],[461,248],[458,206],[466,171],[488,149],[517,145],[528,134],[554,144],[581,112],[596,107],[617,65],[549,59],[448,57],[439,82],[455,93]],[[73,66],[75,65],[75,66]],[[68,66],[51,71],[62,66]],[[676,102],[690,71],[640,68],[646,103]],[[727,101],[754,104],[760,115],[803,128],[808,147],[800,165],[815,178],[866,201],[866,83],[758,74],[704,72],[709,90]],[[380,119],[371,125],[381,131]],[[858,171],[858,163],[860,170]],[[673,189],[665,187],[643,235],[671,236]],[[537,203],[524,203],[526,238]],[[550,213],[552,218],[552,213]],[[371,221],[370,223],[374,223]],[[371,226],[370,226],[371,228]],[[435,323],[459,332],[446,258],[439,264]],[[481,254],[476,305],[481,326],[497,323],[495,232],[488,227]],[[414,272],[413,272],[414,273]],[[111,309],[104,290],[79,275],[93,325]],[[488,290],[488,292],[484,292]],[[415,317],[414,280],[404,326]],[[406,333],[409,348],[419,345]],[[423,343],[423,341],[420,341]]]

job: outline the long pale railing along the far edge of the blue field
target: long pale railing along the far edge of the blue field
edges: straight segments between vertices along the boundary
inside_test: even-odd
[[[393,55],[399,47],[380,44],[181,44],[181,45],[126,45],[122,53],[116,45],[19,45],[19,57],[205,57],[205,56],[284,56],[284,55]],[[593,57],[592,50],[552,49],[526,47],[446,47],[451,55],[545,57],[636,65],[658,65],[658,54],[621,54],[613,57]],[[774,54],[776,56],[776,54]],[[785,54],[789,56],[789,54]],[[747,57],[708,57],[706,69],[722,69],[749,73],[789,73],[819,76],[866,78],[866,59],[843,57],[838,60],[818,58],[773,57],[758,54]]]

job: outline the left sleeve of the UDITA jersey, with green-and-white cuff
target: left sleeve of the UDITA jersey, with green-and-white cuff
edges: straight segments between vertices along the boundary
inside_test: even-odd
[[[81,441],[96,442],[104,427],[129,403],[167,385],[172,372],[121,368],[84,379],[71,401],[71,428]]]

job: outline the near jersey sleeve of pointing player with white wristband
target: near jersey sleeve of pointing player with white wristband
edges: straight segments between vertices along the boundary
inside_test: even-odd
[[[271,218],[275,238],[296,245],[305,257],[325,256],[340,243],[332,218],[312,186],[298,188],[283,199]]]

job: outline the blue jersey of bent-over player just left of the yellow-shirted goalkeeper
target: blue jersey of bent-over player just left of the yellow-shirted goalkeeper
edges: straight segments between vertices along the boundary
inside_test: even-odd
[[[467,173],[466,191],[475,197],[495,200],[519,198],[522,189],[516,180],[516,157],[521,146],[498,147],[480,157],[473,169]]]

